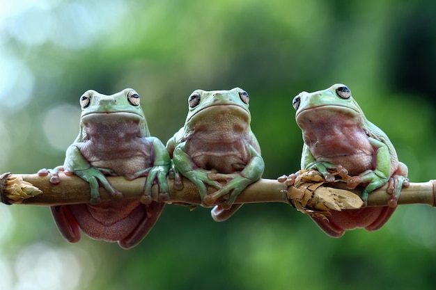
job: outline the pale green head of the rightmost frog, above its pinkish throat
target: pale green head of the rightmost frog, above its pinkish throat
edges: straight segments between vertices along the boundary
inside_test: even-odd
[[[350,89],[336,83],[326,90],[317,92],[300,92],[293,99],[297,123],[304,117],[315,118],[317,115],[336,115],[343,113],[355,117],[363,117],[364,113],[352,98]]]

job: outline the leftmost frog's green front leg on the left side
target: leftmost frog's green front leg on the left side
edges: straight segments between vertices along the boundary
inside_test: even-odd
[[[73,144],[68,147],[63,167],[65,170],[74,172],[78,177],[89,183],[89,186],[91,187],[91,204],[99,204],[101,202],[100,193],[98,192],[100,184],[110,193],[111,198],[123,197],[123,193],[120,193],[114,188],[114,186],[111,186],[102,171],[91,166],[91,164],[81,154],[77,145]],[[103,168],[102,170],[104,170],[104,172],[111,171]]]

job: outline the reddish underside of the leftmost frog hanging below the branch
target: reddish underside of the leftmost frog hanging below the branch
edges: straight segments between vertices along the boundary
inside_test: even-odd
[[[81,230],[92,239],[117,242],[132,248],[150,232],[164,204],[141,204],[137,200],[102,202],[97,206],[68,206]],[[123,208],[124,210],[122,210]]]

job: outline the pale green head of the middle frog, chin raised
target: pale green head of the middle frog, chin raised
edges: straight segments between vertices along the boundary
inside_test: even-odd
[[[214,118],[224,118],[224,112],[231,112],[231,115],[239,118],[240,122],[249,124],[251,122],[249,100],[248,93],[242,88],[212,91],[194,90],[188,97],[189,111],[186,124],[198,122],[213,124]],[[228,121],[230,122],[230,120]]]

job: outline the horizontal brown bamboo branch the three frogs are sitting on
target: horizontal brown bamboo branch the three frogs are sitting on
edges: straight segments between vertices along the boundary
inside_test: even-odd
[[[33,204],[56,206],[61,204],[79,204],[88,203],[90,197],[90,188],[87,182],[75,175],[59,174],[61,182],[59,184],[51,184],[49,176],[38,176],[38,174],[17,174],[13,175],[5,173],[0,176],[0,197],[4,204]],[[107,177],[109,182],[123,193],[125,199],[141,198],[143,186],[146,182],[146,177],[139,177],[132,181],[126,180],[124,177]],[[201,198],[198,189],[188,179],[183,179],[184,187],[182,190],[177,190],[173,186],[173,179],[169,179],[169,200],[166,203],[173,204],[201,204]],[[346,185],[342,182],[336,182],[334,187],[328,187],[322,182],[314,182],[316,188],[322,191],[333,192],[334,195],[341,195],[341,191],[346,193],[345,199],[350,196],[350,191],[346,189]],[[329,184],[331,185],[331,184]],[[338,189],[341,188],[341,189]],[[387,186],[382,186],[373,191],[368,198],[368,207],[386,206],[391,195],[386,192]],[[304,191],[311,189],[310,184],[299,188],[287,186],[284,182],[278,182],[275,179],[260,179],[258,182],[251,184],[245,188],[238,198],[236,204],[254,203],[254,202],[291,202],[295,205],[295,200],[303,200],[304,205],[311,204],[311,200],[320,202],[320,198],[316,194],[304,195]],[[344,190],[345,189],[345,190]],[[208,186],[208,194],[215,192],[216,189]],[[354,190],[353,190],[354,191]],[[314,190],[313,193],[316,193]],[[321,192],[321,191],[320,191]],[[359,191],[355,191],[359,193]],[[312,191],[311,191],[312,193]],[[100,196],[102,200],[110,200],[110,194],[100,187]],[[158,196],[157,186],[152,188],[152,196]],[[309,202],[308,202],[309,200]],[[224,200],[217,200],[217,204]],[[323,202],[323,201],[321,201]],[[342,202],[342,201],[341,201]],[[340,202],[340,203],[341,203]],[[327,203],[328,202],[324,202]],[[436,180],[429,182],[410,183],[408,188],[403,188],[403,191],[398,200],[398,204],[428,204],[436,207]],[[347,208],[347,207],[340,207]],[[350,208],[350,207],[348,207]],[[298,207],[297,207],[298,209]],[[334,209],[334,207],[329,207]]]

